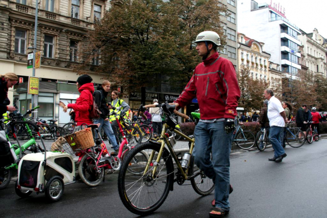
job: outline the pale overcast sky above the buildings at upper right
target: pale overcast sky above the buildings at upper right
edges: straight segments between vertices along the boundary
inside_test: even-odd
[[[286,18],[306,33],[318,29],[322,37],[327,38],[327,1],[326,0],[255,0],[258,4],[271,1],[285,8]]]

